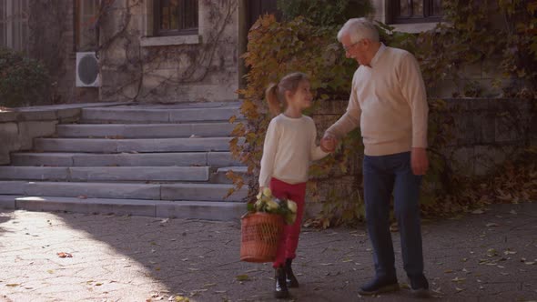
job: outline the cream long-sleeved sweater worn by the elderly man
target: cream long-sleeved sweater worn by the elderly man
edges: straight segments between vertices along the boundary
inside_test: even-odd
[[[427,147],[429,107],[420,65],[409,52],[380,45],[352,78],[347,112],[327,133],[341,138],[360,126],[367,156]]]

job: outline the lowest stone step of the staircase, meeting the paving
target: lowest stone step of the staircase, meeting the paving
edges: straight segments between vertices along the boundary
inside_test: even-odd
[[[235,220],[246,212],[246,205],[238,202],[5,195],[0,195],[0,208],[208,220]]]

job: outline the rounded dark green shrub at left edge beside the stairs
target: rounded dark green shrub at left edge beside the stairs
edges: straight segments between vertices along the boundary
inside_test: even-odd
[[[0,48],[0,105],[32,106],[49,100],[45,65],[20,52]]]

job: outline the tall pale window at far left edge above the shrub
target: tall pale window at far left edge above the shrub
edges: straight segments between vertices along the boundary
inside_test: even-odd
[[[28,0],[0,0],[0,46],[28,49]]]

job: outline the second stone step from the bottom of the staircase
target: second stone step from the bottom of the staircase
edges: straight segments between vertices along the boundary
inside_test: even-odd
[[[228,198],[226,184],[136,184],[0,181],[0,195],[60,196],[151,200],[242,201],[248,188]]]

